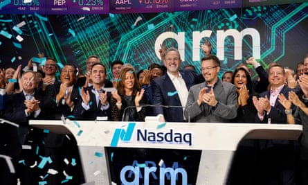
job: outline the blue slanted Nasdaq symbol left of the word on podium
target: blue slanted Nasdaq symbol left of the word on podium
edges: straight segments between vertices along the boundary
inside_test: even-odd
[[[110,146],[118,146],[119,141],[131,141],[135,126],[136,123],[129,123],[127,130],[124,128],[114,130],[114,136],[112,136]]]

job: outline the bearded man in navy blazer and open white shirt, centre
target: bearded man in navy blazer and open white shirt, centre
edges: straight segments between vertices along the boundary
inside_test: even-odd
[[[175,48],[167,49],[163,58],[167,72],[152,80],[154,115],[161,121],[183,122],[188,89],[194,85],[194,74],[190,70],[179,71],[181,57]],[[169,107],[160,107],[167,105]]]

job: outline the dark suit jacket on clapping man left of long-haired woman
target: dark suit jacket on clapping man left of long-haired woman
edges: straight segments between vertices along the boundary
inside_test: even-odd
[[[82,107],[82,98],[78,101],[78,103],[75,105],[75,108],[73,110],[73,115],[78,120],[96,120],[97,116],[107,116],[108,120],[110,120],[110,97],[111,94],[108,92],[107,96],[107,102],[109,103],[109,108],[107,110],[101,110],[100,107],[102,107],[102,104],[100,103],[100,100],[98,101],[98,106],[96,103],[96,95],[92,92],[93,87],[87,87],[87,91],[89,91],[90,94],[90,102],[89,106],[90,109],[86,110],[84,107]]]

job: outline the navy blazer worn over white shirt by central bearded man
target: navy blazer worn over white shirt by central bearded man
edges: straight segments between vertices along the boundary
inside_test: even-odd
[[[185,81],[187,89],[190,89],[194,85],[194,74],[190,70],[180,71],[183,80]],[[176,91],[171,79],[165,73],[163,76],[154,78],[152,80],[152,90],[153,90],[153,105],[172,105],[179,107],[154,107],[154,115],[163,114],[165,116],[165,121],[167,122],[183,122],[183,108],[181,105],[181,100],[178,94],[174,96],[168,95],[168,93],[173,93]],[[184,107],[185,105],[183,105]]]

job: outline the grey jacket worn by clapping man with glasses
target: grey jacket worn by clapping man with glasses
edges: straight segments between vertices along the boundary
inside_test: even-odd
[[[186,118],[190,117],[192,122],[230,122],[237,116],[237,93],[233,84],[217,81],[214,87],[215,98],[219,102],[217,107],[197,104],[199,91],[203,87],[206,87],[206,82],[190,87],[184,112]]]

